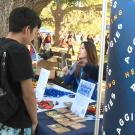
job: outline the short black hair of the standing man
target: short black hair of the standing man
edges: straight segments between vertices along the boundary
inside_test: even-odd
[[[36,26],[40,28],[39,16],[27,7],[15,8],[9,16],[9,32],[21,32],[26,26],[30,26],[31,31]]]

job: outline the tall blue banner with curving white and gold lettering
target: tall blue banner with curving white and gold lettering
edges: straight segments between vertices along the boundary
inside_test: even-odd
[[[135,135],[135,0],[111,2],[104,135]]]

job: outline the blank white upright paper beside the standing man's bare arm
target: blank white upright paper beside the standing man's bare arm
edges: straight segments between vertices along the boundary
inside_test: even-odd
[[[41,69],[36,87],[36,98],[38,101],[41,101],[44,97],[44,92],[48,82],[49,75],[50,75],[49,70],[46,70],[44,68]]]

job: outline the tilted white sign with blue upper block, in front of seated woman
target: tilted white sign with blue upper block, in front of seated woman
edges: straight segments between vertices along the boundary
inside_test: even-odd
[[[71,111],[76,115],[84,118],[88,105],[91,101],[92,94],[94,92],[95,83],[81,80],[77,89]]]

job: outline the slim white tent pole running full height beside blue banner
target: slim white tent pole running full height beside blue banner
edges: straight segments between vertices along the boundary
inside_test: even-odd
[[[100,63],[99,63],[99,75],[98,75],[98,87],[97,87],[97,105],[96,105],[96,121],[94,135],[98,135],[99,122],[100,122],[100,105],[101,105],[101,89],[103,80],[103,67],[104,67],[104,51],[105,51],[105,35],[106,35],[106,12],[107,12],[107,0],[103,0],[102,6],[102,36],[100,47]]]

